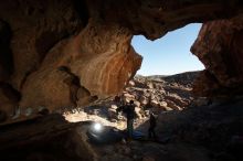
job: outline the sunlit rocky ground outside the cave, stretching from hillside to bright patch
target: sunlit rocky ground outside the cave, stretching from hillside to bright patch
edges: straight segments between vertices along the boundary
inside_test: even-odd
[[[124,92],[109,99],[95,101],[94,105],[84,108],[87,115],[96,115],[112,122],[117,122],[116,127],[126,124],[124,115],[117,115],[116,109],[129,100],[134,100],[137,116],[136,125],[142,124],[149,116],[149,110],[155,114],[166,111],[179,111],[191,106],[198,106],[198,98],[191,94],[192,84],[200,72],[188,72],[171,76],[140,76],[136,75],[129,82]],[[204,100],[204,103],[208,103]],[[76,110],[63,109],[68,120],[78,117],[84,118],[83,112]],[[72,114],[74,112],[74,115]]]

